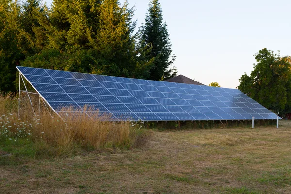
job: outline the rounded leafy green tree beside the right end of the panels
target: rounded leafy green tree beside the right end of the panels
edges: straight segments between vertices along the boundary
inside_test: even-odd
[[[257,64],[251,75],[239,79],[240,89],[266,108],[280,115],[291,107],[291,57],[262,49],[255,55]]]

